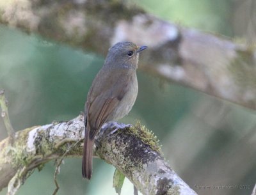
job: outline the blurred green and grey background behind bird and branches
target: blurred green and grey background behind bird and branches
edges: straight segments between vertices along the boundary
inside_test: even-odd
[[[255,42],[255,0],[131,3],[181,26]],[[83,111],[104,57],[0,26],[0,89],[6,91],[15,130],[76,117]],[[256,182],[255,111],[140,71],[138,82],[138,98],[122,122],[140,120],[153,130],[170,166],[198,194],[252,193]],[[0,118],[0,140],[6,136]],[[54,162],[49,162],[42,171],[35,170],[17,194],[52,194],[54,169]],[[95,159],[92,180],[86,182],[81,176],[81,159],[65,159],[58,175],[58,194],[116,194],[113,173],[113,166]],[[228,189],[213,189],[221,185]],[[210,189],[198,189],[204,186]],[[121,194],[132,193],[132,184],[125,179]],[[0,192],[3,194],[6,189]]]

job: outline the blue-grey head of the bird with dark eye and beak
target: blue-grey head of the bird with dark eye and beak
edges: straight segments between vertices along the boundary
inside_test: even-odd
[[[147,46],[138,47],[132,42],[118,42],[109,48],[105,61],[106,66],[120,66],[120,68],[138,68],[138,58]]]

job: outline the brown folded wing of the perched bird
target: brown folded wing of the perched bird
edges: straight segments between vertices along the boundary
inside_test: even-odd
[[[100,91],[100,93],[95,91],[92,86],[86,103],[87,126],[89,126],[87,129],[90,130],[90,139],[95,137],[100,127],[108,120],[109,114],[112,114],[129,90],[129,80],[131,80],[131,75],[122,75],[113,82],[113,85]]]

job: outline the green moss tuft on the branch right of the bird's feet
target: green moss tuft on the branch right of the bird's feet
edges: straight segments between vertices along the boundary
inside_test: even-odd
[[[139,137],[143,143],[148,144],[150,148],[158,153],[163,154],[161,146],[159,145],[159,139],[154,135],[151,130],[148,130],[145,125],[141,125],[138,120],[134,127],[129,127],[129,129],[124,131],[125,134],[131,134]]]

